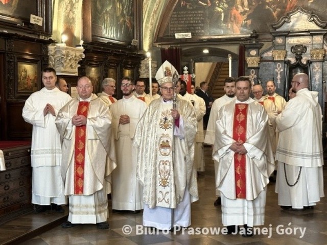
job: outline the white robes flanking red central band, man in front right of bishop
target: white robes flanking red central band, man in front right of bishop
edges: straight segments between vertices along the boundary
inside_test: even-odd
[[[248,104],[246,121],[246,199],[236,198],[233,118],[236,103]],[[268,115],[263,106],[251,98],[232,101],[220,109],[216,122],[213,157],[218,162],[216,188],[221,191],[223,225],[256,226],[264,224],[269,176],[274,170],[271,143],[267,138]],[[237,214],[237,215],[236,215]]]

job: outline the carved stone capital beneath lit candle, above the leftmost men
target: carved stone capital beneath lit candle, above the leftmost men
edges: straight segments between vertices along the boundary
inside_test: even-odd
[[[77,68],[80,66],[78,62],[85,57],[83,52],[83,47],[49,45],[49,66],[56,70],[57,75],[77,76]]]

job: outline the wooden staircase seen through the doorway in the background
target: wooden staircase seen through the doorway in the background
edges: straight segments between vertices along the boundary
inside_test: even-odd
[[[228,62],[217,62],[208,76],[208,91],[214,99],[218,99],[225,94],[224,81],[228,78]]]

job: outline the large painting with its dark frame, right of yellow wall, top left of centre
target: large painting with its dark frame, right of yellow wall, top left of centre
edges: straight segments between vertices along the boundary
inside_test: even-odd
[[[131,45],[140,40],[141,12],[140,0],[83,1],[83,40]]]

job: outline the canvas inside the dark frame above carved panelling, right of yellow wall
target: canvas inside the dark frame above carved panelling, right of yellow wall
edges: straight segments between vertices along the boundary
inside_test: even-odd
[[[130,44],[135,31],[134,5],[135,0],[92,1],[92,36]]]

